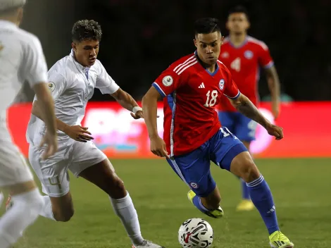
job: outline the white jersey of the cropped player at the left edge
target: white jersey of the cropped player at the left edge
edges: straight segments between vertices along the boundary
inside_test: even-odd
[[[42,45],[35,35],[0,20],[0,111],[2,117],[25,81],[30,86],[47,80]]]

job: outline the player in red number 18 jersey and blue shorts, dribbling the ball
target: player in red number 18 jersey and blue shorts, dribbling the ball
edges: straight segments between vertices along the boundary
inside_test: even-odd
[[[269,232],[271,247],[293,247],[280,232],[273,196],[267,182],[240,140],[221,128],[216,106],[222,94],[248,118],[260,123],[281,140],[282,128],[272,125],[241,94],[227,68],[218,61],[222,44],[217,20],[195,23],[196,51],[161,73],[142,100],[151,151],[166,157],[180,178],[191,188],[188,197],[199,211],[213,218],[223,216],[220,192],[210,171],[210,161],[242,178]],[[164,141],[156,125],[157,101],[164,102]]]

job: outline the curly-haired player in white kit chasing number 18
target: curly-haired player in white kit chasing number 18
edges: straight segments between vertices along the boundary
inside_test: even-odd
[[[27,128],[30,143],[29,161],[42,182],[44,209],[40,213],[55,221],[69,221],[73,201],[69,190],[68,170],[85,178],[109,195],[115,213],[122,221],[133,247],[161,247],[144,240],[140,233],[137,211],[123,181],[115,174],[106,155],[92,143],[92,134],[81,126],[87,101],[94,88],[114,97],[133,118],[142,118],[142,109],[130,94],[124,92],[108,75],[99,53],[101,27],[94,20],[80,20],[72,30],[72,51],[49,70],[49,90],[54,97],[58,128],[58,151],[45,161],[38,147],[44,132],[39,100],[34,101]],[[114,120],[115,121],[115,120]],[[15,203],[14,203],[15,204]]]

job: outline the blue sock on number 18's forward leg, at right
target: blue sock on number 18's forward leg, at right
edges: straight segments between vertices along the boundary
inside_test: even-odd
[[[280,230],[277,223],[275,204],[273,203],[273,195],[270,192],[268,183],[264,180],[263,175],[253,182],[246,183],[251,201],[256,206],[256,209],[261,214],[269,234]]]

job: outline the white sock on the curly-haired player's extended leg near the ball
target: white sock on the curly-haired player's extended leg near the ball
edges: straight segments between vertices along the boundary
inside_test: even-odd
[[[122,221],[127,235],[135,246],[142,244],[144,238],[140,232],[140,225],[138,220],[137,211],[135,206],[133,206],[132,199],[127,192],[127,195],[122,199],[111,199],[111,204],[113,209],[120,220]]]

